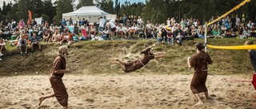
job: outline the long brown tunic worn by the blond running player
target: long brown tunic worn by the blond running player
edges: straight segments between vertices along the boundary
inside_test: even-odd
[[[54,73],[54,71],[60,69],[66,69],[66,59],[62,56],[58,56],[54,60],[54,68],[52,70],[52,76],[50,76],[50,84],[54,89],[54,94],[56,99],[58,99],[58,103],[63,107],[67,107],[68,94],[66,87],[62,82],[62,76],[64,76],[64,73]]]

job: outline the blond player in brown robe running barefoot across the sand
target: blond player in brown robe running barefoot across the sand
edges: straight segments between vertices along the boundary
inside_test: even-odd
[[[58,49],[58,56],[54,60],[54,68],[50,74],[50,84],[54,92],[50,93],[49,95],[40,97],[38,103],[39,106],[44,99],[55,96],[56,99],[58,99],[58,103],[60,103],[64,109],[67,109],[68,94],[66,92],[66,87],[62,82],[64,73],[70,72],[70,69],[66,69],[66,55],[68,55],[67,46],[62,45]]]

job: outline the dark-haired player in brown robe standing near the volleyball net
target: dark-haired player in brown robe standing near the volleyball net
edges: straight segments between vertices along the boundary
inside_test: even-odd
[[[201,42],[198,42],[196,44],[196,48],[197,53],[195,53],[191,57],[188,57],[189,68],[194,67],[194,76],[190,84],[191,91],[198,99],[198,103],[194,105],[202,104],[202,100],[200,99],[198,93],[204,92],[206,95],[206,99],[209,99],[208,90],[206,88],[206,79],[208,75],[207,64],[211,64],[213,62],[210,59],[209,54],[202,51],[202,49],[204,49],[205,46]]]

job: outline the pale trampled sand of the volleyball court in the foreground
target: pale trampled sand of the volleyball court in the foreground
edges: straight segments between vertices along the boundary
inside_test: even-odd
[[[251,76],[208,76],[210,99],[200,94],[203,104],[194,106],[190,91],[193,75],[85,76],[63,77],[73,109],[253,109],[256,91],[248,81]],[[38,98],[52,92],[49,76],[0,77],[0,108],[62,108],[57,99]]]

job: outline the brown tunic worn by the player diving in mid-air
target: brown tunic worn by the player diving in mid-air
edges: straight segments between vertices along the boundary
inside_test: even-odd
[[[135,70],[138,70],[139,68],[142,68],[144,65],[146,65],[152,59],[154,59],[154,54],[146,54],[140,60],[134,60],[130,63],[127,63],[125,65],[125,67],[126,67],[125,72],[134,72]]]

